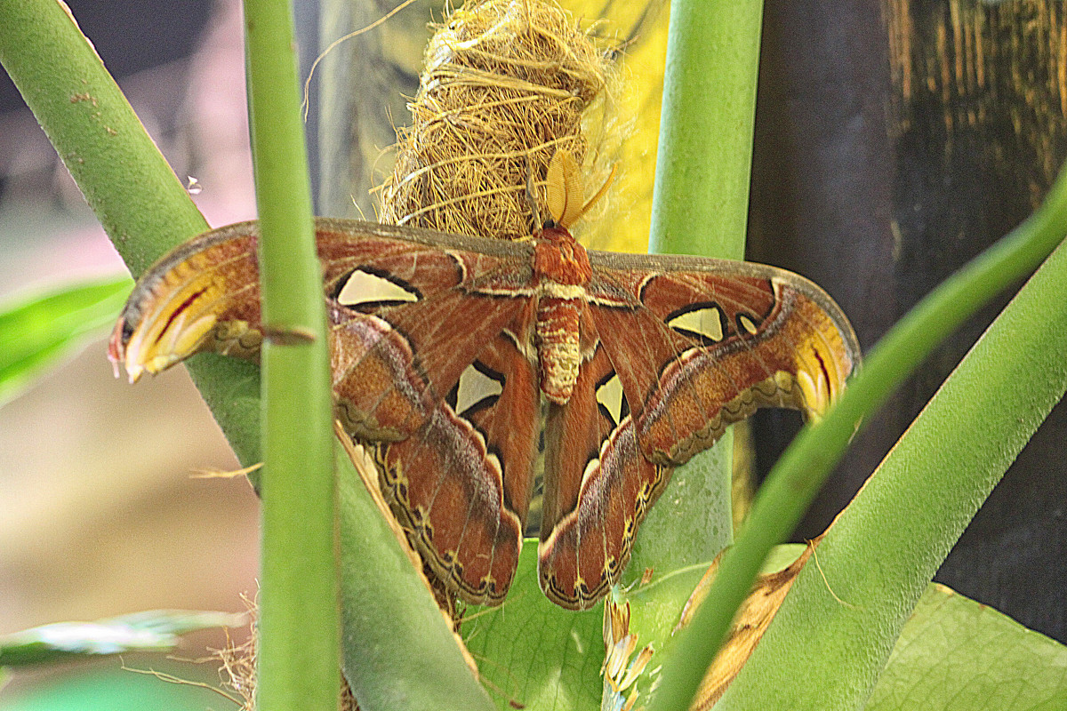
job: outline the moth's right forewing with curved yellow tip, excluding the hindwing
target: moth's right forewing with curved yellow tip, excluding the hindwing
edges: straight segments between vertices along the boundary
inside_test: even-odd
[[[859,363],[841,308],[792,272],[696,257],[590,261],[592,319],[652,462],[684,464],[758,407],[818,416]],[[654,372],[628,365],[649,360]]]

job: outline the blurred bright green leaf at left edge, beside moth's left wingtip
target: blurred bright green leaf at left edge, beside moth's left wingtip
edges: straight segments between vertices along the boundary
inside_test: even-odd
[[[132,284],[128,277],[92,281],[0,307],[0,406],[107,333]]]

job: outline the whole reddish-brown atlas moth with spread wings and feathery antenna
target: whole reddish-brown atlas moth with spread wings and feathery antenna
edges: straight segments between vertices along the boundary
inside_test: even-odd
[[[315,222],[336,416],[471,603],[511,585],[537,462],[541,588],[587,609],[674,467],[758,407],[823,413],[859,360],[844,313],[801,276],[587,252],[569,231],[588,207],[577,175],[557,153],[552,220],[521,241]],[[109,346],[131,382],[201,351],[258,357],[257,239],[255,222],[214,229],[141,277]]]

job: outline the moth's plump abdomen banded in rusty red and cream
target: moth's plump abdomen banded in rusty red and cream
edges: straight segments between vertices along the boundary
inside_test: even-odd
[[[582,363],[579,305],[577,300],[552,296],[543,296],[538,302],[537,350],[541,366],[541,391],[558,405],[571,399]]]

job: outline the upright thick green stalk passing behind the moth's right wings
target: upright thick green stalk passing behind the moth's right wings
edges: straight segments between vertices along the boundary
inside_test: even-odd
[[[651,252],[744,259],[762,13],[762,0],[671,3]],[[728,431],[675,471],[680,505],[653,507],[631,570],[708,561],[730,544],[732,445]]]

